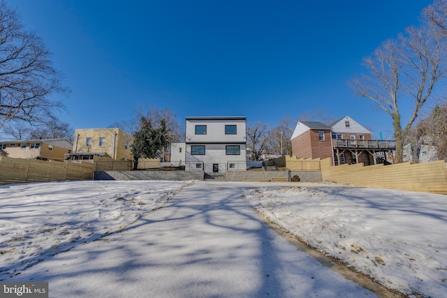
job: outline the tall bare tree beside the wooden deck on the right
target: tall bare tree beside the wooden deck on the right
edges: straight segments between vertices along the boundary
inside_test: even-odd
[[[369,73],[351,81],[356,94],[372,100],[393,119],[395,161],[402,162],[409,130],[427,100],[446,74],[444,41],[430,26],[407,29],[397,40],[388,40],[366,58]],[[402,110],[412,112],[406,123]],[[402,125],[403,124],[403,125]]]

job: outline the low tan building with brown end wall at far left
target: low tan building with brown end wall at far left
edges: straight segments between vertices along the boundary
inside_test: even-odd
[[[66,139],[17,140],[0,142],[0,155],[10,158],[64,161],[73,143]]]

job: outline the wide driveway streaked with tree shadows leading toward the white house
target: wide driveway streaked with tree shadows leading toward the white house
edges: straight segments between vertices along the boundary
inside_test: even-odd
[[[247,184],[245,184],[247,185]],[[374,297],[279,236],[239,184],[196,182],[165,207],[24,271],[50,297]]]

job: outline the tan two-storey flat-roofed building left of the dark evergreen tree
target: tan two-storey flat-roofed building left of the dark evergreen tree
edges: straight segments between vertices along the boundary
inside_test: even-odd
[[[115,161],[132,161],[132,136],[119,128],[76,129],[69,160],[93,160],[94,156],[109,157]]]

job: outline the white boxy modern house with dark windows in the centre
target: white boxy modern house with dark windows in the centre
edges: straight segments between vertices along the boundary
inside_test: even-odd
[[[186,117],[185,170],[247,170],[245,117]]]

